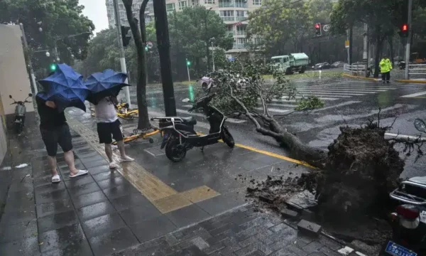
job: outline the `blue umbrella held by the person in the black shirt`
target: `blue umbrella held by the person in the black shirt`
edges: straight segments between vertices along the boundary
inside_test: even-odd
[[[61,112],[66,107],[78,107],[86,111],[84,100],[89,95],[89,90],[84,86],[83,76],[69,65],[59,64],[55,73],[39,82],[46,91],[43,100],[55,102],[58,111]]]

